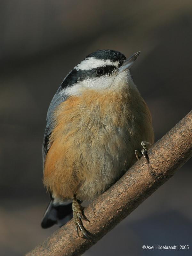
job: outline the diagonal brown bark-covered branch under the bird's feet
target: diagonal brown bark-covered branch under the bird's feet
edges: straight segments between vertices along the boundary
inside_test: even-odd
[[[93,241],[77,237],[70,220],[27,255],[80,255],[114,228],[192,156],[192,111],[158,140],[148,155],[150,164],[142,157],[85,208],[90,222],[84,221],[84,227],[94,235]]]

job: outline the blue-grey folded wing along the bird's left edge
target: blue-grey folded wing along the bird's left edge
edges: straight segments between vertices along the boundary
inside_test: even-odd
[[[64,82],[64,81],[63,81]],[[42,154],[43,154],[43,168],[44,168],[44,161],[45,157],[47,155],[47,152],[49,148],[51,147],[49,143],[49,138],[52,133],[52,130],[54,129],[55,123],[54,123],[54,111],[55,108],[63,101],[65,101],[68,96],[65,94],[65,88],[62,87],[63,83],[60,85],[59,89],[55,93],[54,97],[52,98],[52,101],[49,105],[48,111],[47,111],[47,124],[44,132],[44,139],[43,139],[43,148],[42,148]]]

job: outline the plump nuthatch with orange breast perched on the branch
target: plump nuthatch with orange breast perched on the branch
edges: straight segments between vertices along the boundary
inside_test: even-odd
[[[92,52],[52,98],[43,141],[43,183],[51,199],[42,228],[73,217],[77,235],[91,239],[81,203],[112,186],[140,152],[147,159],[152,118],[130,73],[139,54],[126,59],[114,50]]]

